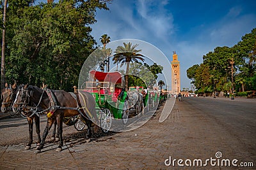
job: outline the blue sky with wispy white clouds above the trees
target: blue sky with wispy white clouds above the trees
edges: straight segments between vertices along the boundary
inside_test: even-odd
[[[172,60],[180,61],[180,87],[191,88],[186,70],[202,63],[203,55],[217,46],[232,47],[256,27],[254,0],[113,0],[109,10],[97,10],[92,36],[111,41],[139,39]],[[140,46],[138,46],[140,49]]]

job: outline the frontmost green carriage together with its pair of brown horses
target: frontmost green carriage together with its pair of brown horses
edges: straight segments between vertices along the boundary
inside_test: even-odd
[[[80,89],[75,88],[75,94],[63,90],[40,89],[31,85],[20,85],[17,91],[15,90],[15,93],[10,90],[7,96],[17,93],[15,100],[10,99],[10,101],[6,101],[6,98],[4,103],[10,104],[15,113],[24,112],[28,121],[33,122],[33,118],[35,119],[36,133],[38,134],[36,153],[39,153],[44,147],[45,138],[53,124],[58,125],[56,135],[60,135],[60,145],[56,151],[60,152],[63,146],[62,121],[67,125],[75,124],[76,129],[80,130],[86,124],[88,126],[86,139],[90,139],[92,135],[90,131],[92,122],[100,125],[103,132],[110,130],[113,119],[115,121],[122,119],[121,122],[123,125],[128,122],[129,109],[132,107],[132,104],[129,101],[127,92],[122,88],[124,81],[122,74],[118,72],[103,73],[93,70],[90,71],[90,78],[90,81],[84,83],[85,86]],[[134,94],[136,92],[132,92],[132,96]],[[138,102],[141,101],[140,99],[136,100],[134,106],[138,106]],[[143,110],[143,104],[140,104],[140,107],[140,110]],[[41,113],[48,111],[47,125],[45,126],[41,140],[39,117]],[[80,119],[76,118],[77,115],[79,115]],[[63,117],[66,118],[63,120]],[[31,138],[33,132],[31,127],[33,123],[30,124],[30,122],[29,143],[26,149],[31,148],[31,144],[33,143],[33,139]],[[54,127],[54,132],[55,129],[56,126]],[[55,137],[53,138],[55,139]]]

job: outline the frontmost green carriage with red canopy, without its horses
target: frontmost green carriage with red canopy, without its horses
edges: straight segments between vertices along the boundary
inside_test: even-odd
[[[124,124],[129,117],[129,103],[127,92],[122,88],[124,77],[119,72],[104,73],[90,71],[90,81],[84,82],[84,86],[75,92],[90,92],[96,102],[97,117],[102,131],[108,132],[112,118],[122,119]],[[83,118],[76,121],[75,127],[81,131],[84,127]]]

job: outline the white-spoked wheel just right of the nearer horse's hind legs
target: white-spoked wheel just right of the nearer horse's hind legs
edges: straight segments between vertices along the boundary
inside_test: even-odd
[[[108,132],[112,124],[112,114],[111,112],[107,109],[104,108],[102,109],[102,113],[100,115],[100,127],[103,132]]]

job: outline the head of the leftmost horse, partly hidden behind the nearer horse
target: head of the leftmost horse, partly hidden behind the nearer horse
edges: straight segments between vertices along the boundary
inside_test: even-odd
[[[3,97],[3,102],[1,106],[2,112],[8,111],[8,108],[12,106],[12,103],[16,95],[16,89],[17,89],[16,83],[14,83],[13,85],[6,84],[5,89],[2,90],[2,97]]]

